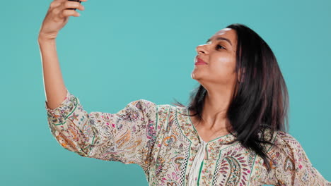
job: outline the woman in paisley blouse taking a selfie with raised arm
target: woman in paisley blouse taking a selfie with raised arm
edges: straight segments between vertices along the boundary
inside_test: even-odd
[[[83,0],[86,1],[86,0]],[[38,42],[47,119],[69,151],[137,163],[149,185],[331,185],[286,133],[288,94],[267,43],[233,24],[197,46],[189,106],[139,99],[117,113],[87,113],[62,80],[55,38],[78,2],[54,0]]]

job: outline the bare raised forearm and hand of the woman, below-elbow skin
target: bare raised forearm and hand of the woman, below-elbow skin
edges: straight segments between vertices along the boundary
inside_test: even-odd
[[[79,2],[67,0],[52,1],[40,27],[37,40],[42,58],[42,76],[46,102],[50,109],[59,106],[66,97],[66,87],[64,86],[59,66],[55,39],[59,30],[68,22],[69,16],[79,16],[78,12],[68,8],[78,8],[81,11],[84,9]]]

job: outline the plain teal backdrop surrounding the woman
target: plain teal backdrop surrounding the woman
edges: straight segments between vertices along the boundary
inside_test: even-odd
[[[51,1],[1,3],[0,185],[148,185],[134,164],[83,158],[47,126],[37,35]],[[129,101],[188,103],[195,47],[231,23],[271,46],[290,98],[290,133],[313,166],[330,171],[331,1],[106,1],[59,32],[66,87],[86,111],[115,113]]]

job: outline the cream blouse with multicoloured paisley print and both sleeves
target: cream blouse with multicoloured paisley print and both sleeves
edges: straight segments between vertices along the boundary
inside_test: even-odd
[[[52,135],[80,156],[137,163],[149,185],[331,185],[310,163],[301,144],[277,131],[269,147],[272,169],[263,159],[224,135],[204,142],[186,107],[139,99],[117,113],[87,113],[67,91],[55,109],[47,107]],[[204,158],[206,155],[206,159]],[[269,162],[270,163],[270,162]]]

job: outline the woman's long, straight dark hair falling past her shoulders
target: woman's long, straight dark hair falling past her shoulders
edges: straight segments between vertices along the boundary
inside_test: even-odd
[[[256,32],[238,23],[227,27],[236,30],[236,73],[240,73],[226,112],[230,121],[227,128],[236,136],[233,142],[239,141],[243,147],[255,151],[269,170],[269,156],[264,144],[274,145],[271,141],[274,132],[286,132],[289,128],[286,83],[272,49]],[[202,120],[206,94],[202,85],[190,94],[187,108],[194,111],[191,116],[197,116],[198,120]],[[178,101],[175,105],[184,106]]]

